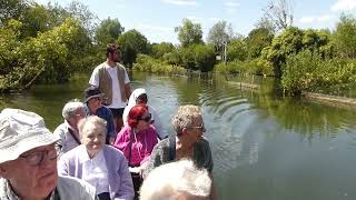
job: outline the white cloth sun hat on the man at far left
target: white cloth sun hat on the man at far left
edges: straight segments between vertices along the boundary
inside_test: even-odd
[[[26,151],[59,141],[49,131],[43,118],[20,109],[3,109],[0,113],[0,163],[16,160]]]

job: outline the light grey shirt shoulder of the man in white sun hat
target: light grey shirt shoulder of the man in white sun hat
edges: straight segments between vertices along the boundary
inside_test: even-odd
[[[96,189],[83,180],[69,176],[59,176],[57,188],[61,197],[71,199],[95,199]]]

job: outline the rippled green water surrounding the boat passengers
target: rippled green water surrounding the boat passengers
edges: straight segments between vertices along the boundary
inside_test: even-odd
[[[89,74],[61,86],[0,96],[0,109],[38,112],[53,130],[62,122],[66,101],[83,98]],[[220,199],[356,199],[356,110],[333,108],[276,94],[273,80],[216,76],[162,77],[134,72],[132,88],[144,87],[171,132],[170,118],[180,104],[202,108],[206,137],[215,160]]]

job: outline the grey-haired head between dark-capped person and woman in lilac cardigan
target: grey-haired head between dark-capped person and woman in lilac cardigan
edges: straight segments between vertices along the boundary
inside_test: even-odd
[[[67,102],[62,110],[62,117],[75,129],[78,129],[78,122],[86,116],[85,104],[78,99]]]

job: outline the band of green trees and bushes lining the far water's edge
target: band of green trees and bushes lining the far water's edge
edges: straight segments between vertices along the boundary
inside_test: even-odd
[[[280,2],[286,3],[270,1],[270,8],[288,12]],[[0,10],[1,92],[67,82],[76,72],[102,62],[109,42],[120,46],[121,62],[132,70],[273,77],[290,97],[356,90],[356,17],[347,13],[340,16],[335,30],[300,29],[293,21],[278,23],[269,18],[278,9],[265,9],[247,36],[219,21],[206,40],[200,23],[182,19],[172,28],[180,43],[172,44],[150,43],[144,33],[125,30],[118,19],[99,20],[78,1],[62,8],[13,0],[1,3]]]

